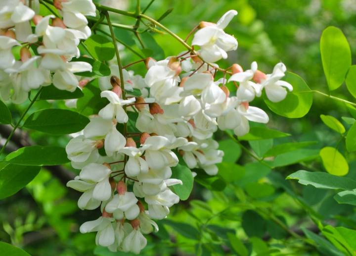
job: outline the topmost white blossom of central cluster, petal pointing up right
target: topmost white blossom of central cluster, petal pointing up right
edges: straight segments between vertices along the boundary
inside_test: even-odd
[[[195,33],[192,45],[200,46],[199,53],[204,60],[216,62],[221,58],[227,58],[226,51],[237,49],[236,39],[223,31],[236,14],[237,11],[229,10],[217,24],[209,23]]]

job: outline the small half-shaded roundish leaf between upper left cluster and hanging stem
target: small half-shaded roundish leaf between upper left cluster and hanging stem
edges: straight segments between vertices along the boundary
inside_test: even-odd
[[[100,35],[92,35],[84,44],[91,56],[97,60],[111,60],[115,55],[114,45],[110,39]]]

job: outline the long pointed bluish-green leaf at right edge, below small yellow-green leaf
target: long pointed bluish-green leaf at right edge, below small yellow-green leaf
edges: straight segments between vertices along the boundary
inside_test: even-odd
[[[295,179],[300,184],[312,185],[320,189],[353,190],[356,188],[356,180],[335,176],[326,172],[299,170],[289,175],[286,179]]]

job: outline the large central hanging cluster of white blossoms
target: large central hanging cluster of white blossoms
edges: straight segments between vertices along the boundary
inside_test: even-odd
[[[267,75],[255,62],[246,71],[234,64],[228,80],[215,81],[219,67],[205,61],[226,58],[226,51],[236,50],[236,39],[223,31],[236,14],[230,10],[217,24],[200,24],[192,42],[200,47],[199,55],[183,52],[160,61],[148,58],[144,78],[123,70],[126,97],[118,66],[111,67],[110,79],[100,79],[101,97],[109,103],[66,147],[72,166],[81,169],[67,184],[83,192],[78,206],[100,207],[102,212],[80,227],[82,233],[97,232],[97,245],[113,252],[140,253],[147,244],[142,234],[158,230],[152,219],[165,218],[179,201],[170,189],[182,184],[171,178],[177,154],[189,168],[217,174],[223,152],[213,133],[218,128],[233,129],[242,136],[249,132],[249,121],[267,123],[266,112],[249,102],[263,89],[272,102],[283,100],[286,89],[293,89],[280,81],[286,70],[283,63]],[[238,87],[236,95],[230,96],[227,82]],[[141,96],[134,97],[134,90]],[[129,118],[130,112],[138,114],[136,120]]]

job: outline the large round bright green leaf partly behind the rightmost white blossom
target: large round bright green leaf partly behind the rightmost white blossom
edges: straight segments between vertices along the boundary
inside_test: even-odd
[[[312,107],[312,91],[306,82],[298,75],[286,72],[284,79],[293,86],[293,91],[281,102],[271,102],[264,97],[268,108],[274,113],[288,118],[305,116]]]

